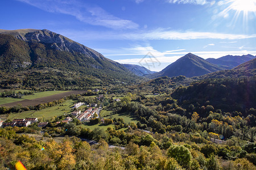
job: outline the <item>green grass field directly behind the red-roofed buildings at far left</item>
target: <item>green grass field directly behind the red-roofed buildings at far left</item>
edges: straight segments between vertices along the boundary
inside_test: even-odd
[[[11,113],[8,117],[10,120],[14,118],[26,118],[26,117],[37,117],[43,118],[44,120],[51,119],[54,116],[61,116],[71,112],[71,107],[73,106],[73,100],[67,100],[64,103],[55,105],[50,108],[42,109],[40,111],[26,111],[21,113]]]

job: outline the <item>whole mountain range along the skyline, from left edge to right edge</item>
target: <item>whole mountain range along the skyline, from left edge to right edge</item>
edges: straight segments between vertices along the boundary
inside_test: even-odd
[[[158,78],[184,75],[188,78],[200,76],[201,79],[255,75],[254,58],[247,54],[203,59],[188,53],[156,73],[142,66],[112,61],[47,29],[0,29],[2,88],[82,88],[134,83],[142,79],[141,76]]]

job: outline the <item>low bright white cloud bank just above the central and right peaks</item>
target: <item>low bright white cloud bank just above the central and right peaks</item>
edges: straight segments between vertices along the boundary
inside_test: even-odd
[[[211,44],[213,45],[213,44]],[[188,54],[189,52],[185,49],[177,49],[177,50],[166,50],[163,52],[160,52],[159,50],[154,49],[152,46],[141,46],[136,45],[131,48],[121,48],[121,49],[112,49],[113,54],[107,50],[108,54],[104,54],[105,57],[115,57],[119,56],[118,58],[122,59],[115,59],[114,61],[119,63],[130,63],[135,65],[140,65],[141,62],[143,64],[143,57],[150,52],[153,57],[155,57],[161,64],[160,66],[154,67],[154,71],[160,71],[164,69],[164,67],[170,65],[172,62],[175,62],[177,59],[185,56],[185,54]],[[102,49],[102,52],[104,52],[104,49]],[[226,55],[234,55],[234,56],[242,56],[243,54],[252,54],[256,55],[256,51],[247,51],[247,50],[238,50],[238,51],[194,51],[191,52],[199,57],[202,57],[204,59],[207,58],[220,58]],[[136,57],[135,57],[136,56]]]

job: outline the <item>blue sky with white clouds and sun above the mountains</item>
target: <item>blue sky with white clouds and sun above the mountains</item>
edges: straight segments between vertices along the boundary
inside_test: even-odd
[[[160,71],[187,53],[256,55],[256,0],[1,0],[0,29],[49,29]]]

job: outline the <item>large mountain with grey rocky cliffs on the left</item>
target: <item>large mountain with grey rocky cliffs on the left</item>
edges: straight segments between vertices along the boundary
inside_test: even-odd
[[[2,87],[85,87],[92,82],[98,86],[137,81],[120,63],[47,29],[1,29],[0,76]]]

